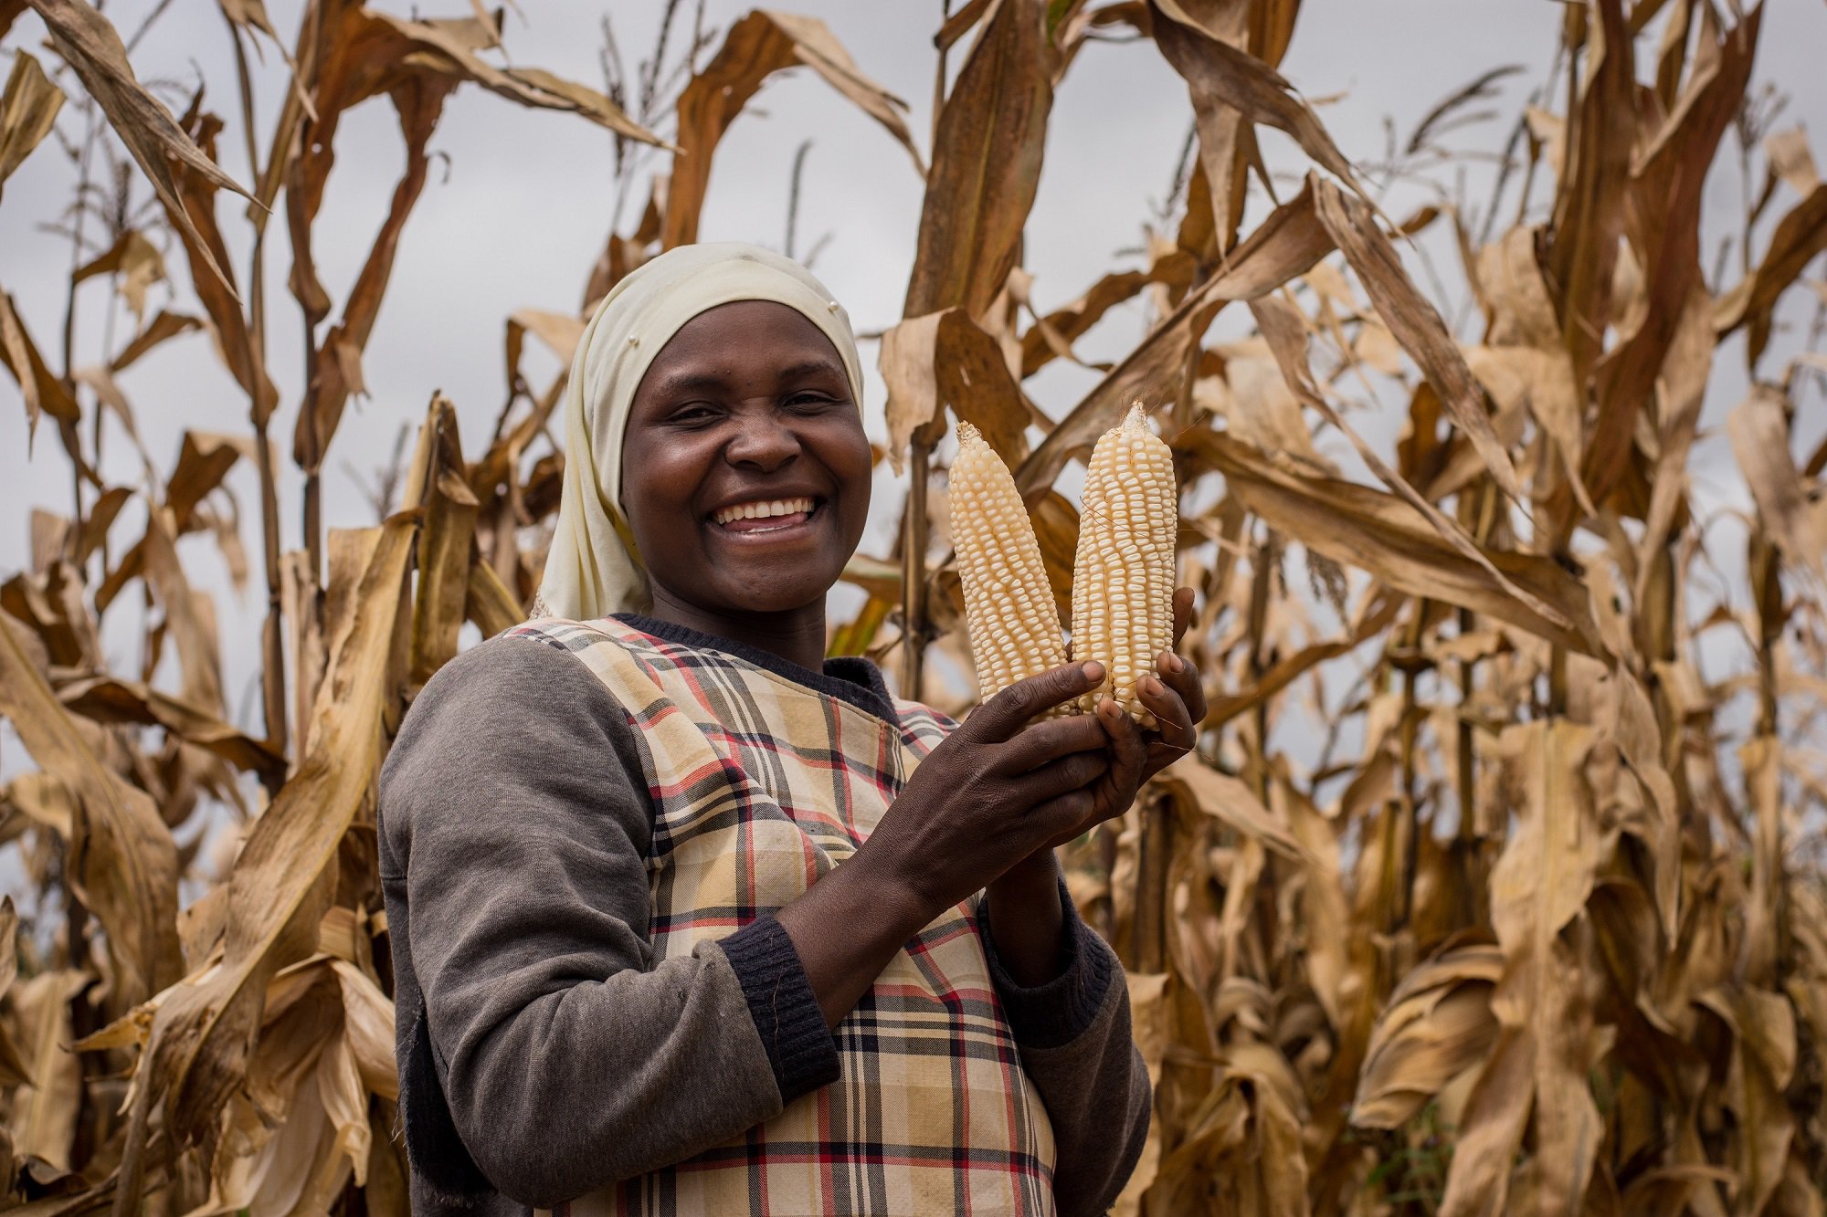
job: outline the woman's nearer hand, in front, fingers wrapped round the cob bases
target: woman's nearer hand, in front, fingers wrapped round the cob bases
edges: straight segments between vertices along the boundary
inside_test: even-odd
[[[1034,716],[1102,680],[1102,663],[1067,663],[979,705],[921,760],[853,861],[882,868],[930,919],[1083,831],[1111,738],[1094,714]]]

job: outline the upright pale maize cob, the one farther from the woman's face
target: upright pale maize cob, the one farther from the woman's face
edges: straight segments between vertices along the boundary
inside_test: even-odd
[[[1085,471],[1072,561],[1072,658],[1098,660],[1105,678],[1080,700],[1083,709],[1109,693],[1142,727],[1156,725],[1135,685],[1173,645],[1178,526],[1173,451],[1149,431],[1136,402],[1098,439]]]

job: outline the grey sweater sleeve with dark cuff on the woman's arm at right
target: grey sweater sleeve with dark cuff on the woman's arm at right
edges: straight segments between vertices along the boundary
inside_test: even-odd
[[[1025,987],[996,956],[985,903],[983,948],[1021,1067],[1047,1104],[1061,1217],[1102,1213],[1124,1190],[1147,1138],[1151,1089],[1129,1038],[1129,990],[1116,952],[1085,925],[1060,884],[1063,968]]]

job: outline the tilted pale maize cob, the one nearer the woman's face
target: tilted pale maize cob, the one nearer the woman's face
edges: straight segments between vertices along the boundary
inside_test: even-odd
[[[1065,663],[1065,638],[1016,479],[968,422],[957,426],[950,504],[970,656],[988,700]]]

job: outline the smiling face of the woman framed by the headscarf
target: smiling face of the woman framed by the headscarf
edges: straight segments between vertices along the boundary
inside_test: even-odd
[[[870,442],[829,338],[771,300],[687,322],[634,393],[621,504],[656,596],[822,610],[870,512]]]

